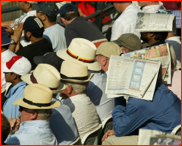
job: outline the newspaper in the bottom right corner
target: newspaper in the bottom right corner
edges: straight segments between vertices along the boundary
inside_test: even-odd
[[[139,129],[138,145],[179,145],[181,136],[158,130]]]

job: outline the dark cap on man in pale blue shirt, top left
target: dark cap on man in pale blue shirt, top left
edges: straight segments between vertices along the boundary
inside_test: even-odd
[[[53,1],[42,1],[38,4],[33,4],[32,8],[37,11],[42,11],[48,17],[56,17],[59,13],[59,9]]]

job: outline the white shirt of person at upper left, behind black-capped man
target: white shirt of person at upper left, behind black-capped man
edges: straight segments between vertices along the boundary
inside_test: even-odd
[[[20,23],[24,23],[25,20],[30,17],[30,16],[36,16],[36,10],[32,10],[32,11],[29,11],[27,13],[25,13],[24,15],[22,15],[20,18],[16,19],[14,23],[12,23],[10,25],[10,27],[12,29],[14,29],[14,24],[17,24],[18,22]],[[24,32],[22,31],[22,35],[21,35],[21,38],[20,38],[20,43],[23,47],[27,46],[27,45],[30,45],[31,42],[26,42],[25,39],[24,39]]]

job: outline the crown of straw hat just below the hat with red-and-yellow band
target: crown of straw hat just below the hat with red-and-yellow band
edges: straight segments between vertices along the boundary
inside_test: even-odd
[[[88,66],[82,62],[66,60],[62,63],[61,74],[69,78],[86,77],[88,76]]]

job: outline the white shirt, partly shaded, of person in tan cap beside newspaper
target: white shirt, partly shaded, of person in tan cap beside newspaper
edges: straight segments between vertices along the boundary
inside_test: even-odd
[[[87,88],[87,96],[96,106],[97,113],[102,122],[112,114],[114,109],[114,98],[107,98],[107,94],[105,94],[106,79],[104,74],[95,73]]]

